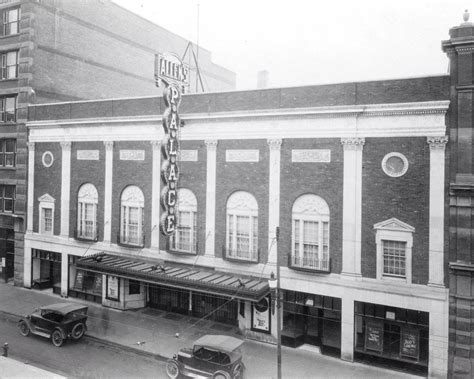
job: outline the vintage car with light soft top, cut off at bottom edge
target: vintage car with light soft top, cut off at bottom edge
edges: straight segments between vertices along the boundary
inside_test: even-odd
[[[205,335],[192,349],[181,349],[166,363],[166,373],[178,377],[242,379],[245,366],[239,347],[244,341],[224,335]]]

